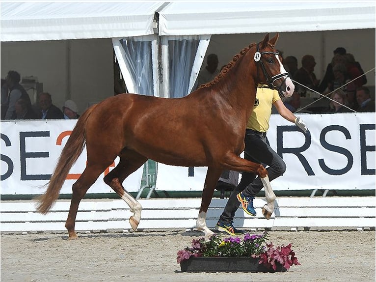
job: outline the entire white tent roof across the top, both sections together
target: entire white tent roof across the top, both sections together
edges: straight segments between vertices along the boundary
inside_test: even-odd
[[[164,7],[164,8],[163,8]],[[375,1],[1,2],[0,40],[375,28]]]

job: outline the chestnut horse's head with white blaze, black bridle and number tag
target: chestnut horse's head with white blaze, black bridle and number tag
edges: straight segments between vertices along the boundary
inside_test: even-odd
[[[260,82],[278,90],[281,97],[290,97],[294,93],[295,85],[289,73],[283,67],[278,51],[274,49],[278,37],[279,33],[269,40],[268,33],[262,42],[256,44],[256,52],[253,58],[257,66]],[[259,69],[262,70],[262,75]]]

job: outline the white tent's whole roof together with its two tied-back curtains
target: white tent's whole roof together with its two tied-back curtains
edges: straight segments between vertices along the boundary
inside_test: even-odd
[[[17,57],[13,50],[23,50],[17,42],[48,46],[48,40],[70,40],[70,50],[73,39],[111,38],[130,92],[179,97],[192,89],[212,34],[374,30],[375,6],[375,1],[1,2],[0,41],[7,55]],[[365,38],[365,45],[374,46],[374,39]],[[74,67],[66,53],[69,73]],[[177,73],[180,70],[185,72]],[[71,79],[65,79],[66,84],[74,84]],[[143,86],[146,82],[152,83]],[[70,86],[66,92],[70,98]]]

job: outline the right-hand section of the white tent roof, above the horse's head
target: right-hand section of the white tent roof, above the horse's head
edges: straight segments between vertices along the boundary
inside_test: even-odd
[[[171,2],[160,35],[234,34],[375,28],[375,1]]]

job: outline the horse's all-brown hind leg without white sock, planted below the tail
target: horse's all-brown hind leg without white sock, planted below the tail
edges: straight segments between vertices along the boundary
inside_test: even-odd
[[[75,231],[76,216],[79,209],[79,204],[87,190],[97,180],[98,176],[110,165],[93,166],[88,163],[85,170],[82,172],[79,179],[72,186],[72,200],[69,208],[68,218],[65,222],[65,228],[68,230],[68,240],[76,239],[77,233]]]

